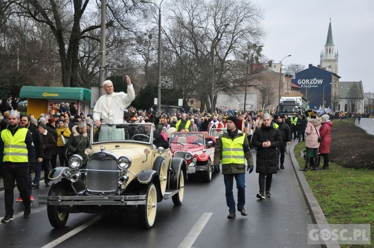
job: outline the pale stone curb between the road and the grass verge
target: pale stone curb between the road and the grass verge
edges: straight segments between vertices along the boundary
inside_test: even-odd
[[[299,170],[300,165],[295,158],[294,147],[297,143],[293,143],[290,148],[290,158],[292,167],[294,169],[297,181],[299,182],[301,192],[304,196],[305,203],[307,204],[310,216],[314,224],[329,224],[326,220],[325,214],[323,213],[320,204],[316,197],[313,195],[312,189],[309,186],[307,179],[305,179],[304,173]],[[340,248],[338,242],[331,242],[334,244],[321,245],[323,248]]]

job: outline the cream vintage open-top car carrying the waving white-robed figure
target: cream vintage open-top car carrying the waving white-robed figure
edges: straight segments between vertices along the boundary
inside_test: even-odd
[[[51,171],[49,177],[59,181],[51,185],[48,196],[39,196],[39,204],[47,205],[54,228],[64,227],[69,213],[121,212],[136,206],[141,227],[149,229],[158,202],[172,198],[175,205],[182,204],[185,160],[152,143],[151,124],[103,124],[102,128],[111,128],[106,132],[109,137],[91,135],[86,165],[75,154],[69,158],[69,167]],[[124,138],[114,140],[114,132]]]

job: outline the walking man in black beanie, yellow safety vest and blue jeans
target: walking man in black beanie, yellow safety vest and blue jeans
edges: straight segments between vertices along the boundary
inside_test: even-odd
[[[235,218],[235,200],[232,193],[233,179],[238,189],[237,210],[242,216],[248,213],[245,205],[245,160],[247,160],[249,173],[253,171],[253,157],[249,150],[247,136],[236,128],[238,119],[234,116],[227,118],[227,130],[219,136],[214,149],[214,166],[219,166],[222,160],[222,174],[226,188],[226,204],[229,215],[227,218]]]

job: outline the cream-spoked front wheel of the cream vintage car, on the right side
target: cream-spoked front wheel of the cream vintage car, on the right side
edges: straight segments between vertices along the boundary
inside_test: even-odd
[[[147,188],[146,205],[138,206],[138,216],[140,227],[143,229],[150,229],[155,223],[157,212],[157,192],[153,183],[150,183]]]

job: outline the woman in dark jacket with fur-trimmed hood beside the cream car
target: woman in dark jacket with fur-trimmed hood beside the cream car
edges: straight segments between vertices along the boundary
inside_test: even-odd
[[[78,125],[73,126],[72,134],[73,135],[70,135],[66,146],[73,154],[81,155],[83,157],[83,164],[85,164],[88,156],[84,153],[84,150],[90,147],[86,121],[82,120]]]

